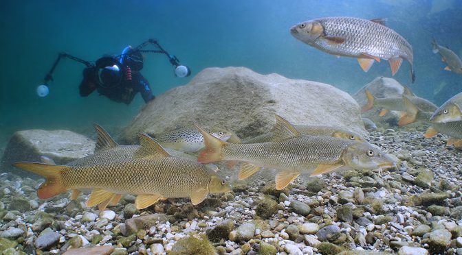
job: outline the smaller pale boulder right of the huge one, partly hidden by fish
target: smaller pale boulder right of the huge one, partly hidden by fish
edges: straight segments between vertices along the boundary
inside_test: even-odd
[[[364,90],[369,90],[374,97],[401,97],[404,92],[404,86],[399,84],[397,80],[387,77],[377,77],[372,82],[364,85],[358,90],[353,98],[358,102],[360,106],[364,106],[367,103],[367,97]],[[372,108],[367,112],[362,113],[362,117],[371,119],[379,127],[394,127],[397,125],[398,114],[397,112],[391,112],[386,114],[384,117],[379,116],[380,108]],[[382,123],[382,125],[381,125]]]

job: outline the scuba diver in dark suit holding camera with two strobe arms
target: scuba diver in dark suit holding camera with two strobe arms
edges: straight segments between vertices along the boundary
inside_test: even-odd
[[[143,50],[142,47],[148,44],[155,45],[157,49]],[[150,39],[135,48],[131,46],[125,47],[120,56],[104,56],[96,60],[95,64],[70,56],[67,53],[60,53],[52,70],[45,76],[44,84],[37,88],[37,93],[39,96],[47,95],[47,82],[53,80],[52,72],[56,68],[59,60],[61,60],[61,58],[71,58],[87,66],[87,68],[83,70],[83,80],[80,82],[80,86],[78,86],[80,96],[87,97],[93,93],[94,90],[97,90],[100,95],[104,95],[112,101],[129,105],[135,95],[140,93],[144,102],[148,103],[148,101],[153,100],[155,96],[152,93],[148,80],[140,73],[143,69],[142,53],[145,52],[166,54],[170,60],[170,64],[175,66],[176,76],[185,77],[190,75],[190,69],[187,66],[180,65],[177,57],[170,56],[170,54],[162,49],[156,40]],[[43,88],[43,86],[45,86],[45,88]]]

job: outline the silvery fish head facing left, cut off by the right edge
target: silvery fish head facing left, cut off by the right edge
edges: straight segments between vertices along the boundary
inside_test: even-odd
[[[462,121],[462,92],[451,97],[435,110],[430,121],[437,123]]]

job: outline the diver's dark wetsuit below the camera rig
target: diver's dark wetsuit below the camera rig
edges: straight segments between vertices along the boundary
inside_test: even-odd
[[[117,60],[114,60],[117,61]],[[104,64],[102,64],[104,66]],[[148,80],[139,72],[131,71],[131,79],[126,75],[126,69],[122,69],[122,77],[115,84],[104,84],[98,82],[98,69],[102,66],[91,66],[83,70],[83,81],[78,86],[80,96],[87,97],[94,90],[112,101],[130,104],[135,95],[141,93],[144,102],[154,99]]]

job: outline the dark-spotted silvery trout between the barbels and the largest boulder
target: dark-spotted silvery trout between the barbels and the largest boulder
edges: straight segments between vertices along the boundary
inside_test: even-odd
[[[219,127],[205,127],[204,130],[223,141],[228,141],[232,132]],[[153,137],[153,140],[162,147],[178,151],[195,152],[203,148],[202,134],[195,127],[182,127],[178,130],[165,132]]]

